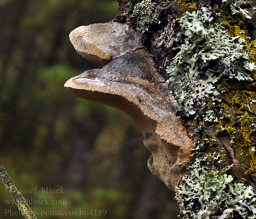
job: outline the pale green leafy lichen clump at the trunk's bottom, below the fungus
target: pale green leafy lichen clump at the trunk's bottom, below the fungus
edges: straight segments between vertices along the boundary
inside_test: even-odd
[[[213,155],[219,160],[219,155]],[[182,178],[176,189],[181,216],[186,219],[224,219],[227,212],[237,211],[242,218],[256,218],[256,194],[243,183],[218,170],[208,169],[203,162],[207,157],[196,158],[192,171]],[[228,167],[230,168],[230,166]]]

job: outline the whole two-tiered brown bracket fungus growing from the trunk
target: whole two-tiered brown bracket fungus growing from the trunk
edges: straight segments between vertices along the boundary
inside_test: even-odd
[[[127,24],[111,21],[78,27],[69,37],[82,57],[108,64],[69,79],[65,87],[79,97],[131,116],[152,153],[149,169],[174,191],[185,174],[193,144],[175,115],[178,103],[140,34]]]

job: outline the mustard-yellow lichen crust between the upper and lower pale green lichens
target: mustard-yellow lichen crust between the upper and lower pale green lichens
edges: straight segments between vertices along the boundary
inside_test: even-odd
[[[234,114],[232,120],[227,118],[227,106],[220,103],[222,117],[218,120],[216,130],[218,134],[229,134],[230,145],[234,150],[235,157],[244,170],[245,176],[256,181],[256,156],[252,146],[255,145],[255,138],[251,136],[252,124],[256,118],[256,93],[252,84],[228,83],[223,80],[218,85],[221,91],[221,99],[226,101],[233,109]]]

